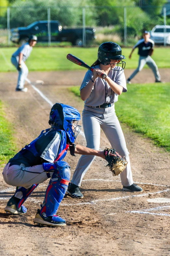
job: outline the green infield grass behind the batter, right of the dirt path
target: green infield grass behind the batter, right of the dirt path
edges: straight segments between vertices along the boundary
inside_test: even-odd
[[[79,87],[70,90],[79,95]],[[170,83],[133,84],[115,103],[121,122],[170,151]]]

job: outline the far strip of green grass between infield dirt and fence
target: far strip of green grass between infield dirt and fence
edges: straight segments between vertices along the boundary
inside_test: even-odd
[[[15,47],[0,48],[0,72],[16,70],[11,64],[10,58],[16,50]],[[66,59],[66,55],[71,53],[91,65],[97,59],[98,47],[79,48],[79,47],[36,47],[31,56],[26,61],[29,71],[50,71],[50,70],[80,70],[84,69]],[[155,48],[153,59],[159,68],[170,67],[169,48]],[[133,53],[132,59],[128,56],[131,48],[122,48],[122,54],[126,56],[126,68],[136,68],[138,64],[137,49]],[[148,68],[146,65],[145,68]]]

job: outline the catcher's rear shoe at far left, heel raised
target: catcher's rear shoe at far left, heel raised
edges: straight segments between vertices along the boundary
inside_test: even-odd
[[[21,205],[20,208],[18,208],[18,203],[20,202],[20,198],[15,197],[14,195],[9,199],[7,202],[7,206],[5,207],[5,211],[14,215],[20,215],[27,212],[27,209],[24,205]]]

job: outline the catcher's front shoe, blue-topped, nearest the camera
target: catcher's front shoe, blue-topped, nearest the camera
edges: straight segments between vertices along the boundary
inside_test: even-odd
[[[47,225],[50,227],[56,227],[56,226],[66,226],[65,220],[57,215],[53,216],[47,216],[45,212],[40,215],[40,210],[37,210],[37,214],[35,215],[35,218],[33,220],[34,223],[37,223],[38,225]]]

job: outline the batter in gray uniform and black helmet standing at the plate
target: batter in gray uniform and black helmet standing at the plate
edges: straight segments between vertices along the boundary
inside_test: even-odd
[[[121,54],[119,45],[106,42],[99,46],[98,60],[92,64],[94,71],[88,70],[80,87],[80,96],[85,101],[82,114],[83,129],[87,141],[87,147],[99,150],[100,128],[104,131],[111,147],[128,161],[126,169],[120,174],[124,191],[143,191],[134,184],[131,172],[129,152],[125,138],[115,113],[114,103],[118,101],[118,95],[126,92],[126,80],[124,76],[125,57]],[[102,79],[102,74],[106,78]],[[90,168],[94,156],[81,156],[73,174],[67,192],[74,198],[83,198],[79,186]]]

